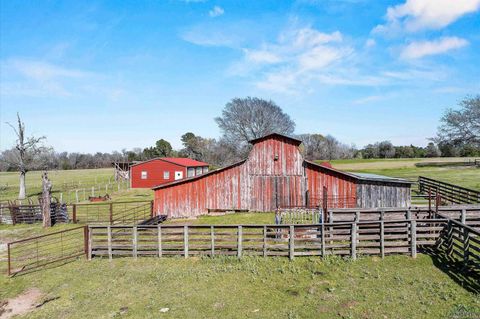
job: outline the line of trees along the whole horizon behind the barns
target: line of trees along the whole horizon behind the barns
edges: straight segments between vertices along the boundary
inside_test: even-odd
[[[277,104],[252,97],[232,99],[215,122],[222,132],[220,138],[187,132],[182,135],[182,148],[178,150],[167,140],[159,139],[146,148],[88,154],[55,152],[52,147],[41,145],[43,137],[27,139],[25,126],[18,117],[18,127],[11,125],[18,137],[17,145],[0,154],[0,170],[103,168],[111,167],[112,162],[156,157],[189,157],[221,167],[245,158],[250,149],[249,140],[273,132],[302,140],[302,152],[309,160],[480,156],[480,95],[465,98],[457,110],[447,110],[441,118],[437,136],[431,138],[426,147],[396,146],[390,141],[379,141],[357,148],[331,135],[295,135],[295,122]],[[20,138],[24,139],[23,147]]]

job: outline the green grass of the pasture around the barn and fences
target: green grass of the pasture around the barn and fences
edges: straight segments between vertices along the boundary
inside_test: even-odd
[[[432,159],[429,159],[432,161]],[[452,159],[453,161],[454,159]],[[455,159],[458,160],[458,159]],[[417,160],[333,161],[347,171],[416,179],[418,175],[480,189],[480,169],[415,167]],[[98,175],[97,175],[98,173]],[[68,177],[82,183],[108,181],[111,170],[51,173],[55,185]],[[67,177],[68,176],[68,177]],[[13,185],[16,173],[0,173]],[[34,184],[39,172],[30,172]],[[5,182],[7,181],[7,182]],[[18,182],[17,182],[18,185]],[[16,192],[1,194],[15,197]],[[151,199],[150,190],[122,190],[113,199]],[[272,213],[242,213],[177,219],[185,224],[272,224]],[[0,225],[0,271],[4,243],[74,227]],[[3,244],[3,245],[2,245]],[[438,268],[435,257],[419,254],[341,258],[119,258],[84,259],[8,278],[0,275],[2,300],[29,288],[50,300],[25,318],[470,318],[480,315],[480,296]],[[1,307],[1,306],[0,306]],[[168,308],[167,312],[161,312]],[[466,317],[465,314],[473,314]],[[462,317],[462,315],[464,315]]]

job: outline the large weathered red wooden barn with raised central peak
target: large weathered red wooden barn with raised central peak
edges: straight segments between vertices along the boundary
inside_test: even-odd
[[[410,205],[409,181],[347,173],[306,161],[299,150],[302,142],[281,134],[250,142],[252,150],[243,161],[154,187],[156,213],[193,217],[209,211],[265,212],[319,205],[324,189],[330,207]]]

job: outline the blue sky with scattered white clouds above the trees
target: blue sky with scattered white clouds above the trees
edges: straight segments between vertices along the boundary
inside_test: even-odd
[[[296,133],[425,145],[480,93],[480,0],[1,1],[0,149],[20,112],[57,151],[218,137],[233,97]]]

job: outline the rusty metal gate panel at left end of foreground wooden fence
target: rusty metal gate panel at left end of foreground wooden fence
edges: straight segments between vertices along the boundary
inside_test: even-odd
[[[85,256],[87,231],[81,226],[8,243],[7,274],[27,273]]]

